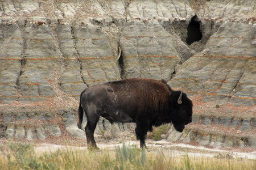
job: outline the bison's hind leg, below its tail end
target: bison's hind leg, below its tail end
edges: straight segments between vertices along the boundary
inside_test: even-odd
[[[85,126],[85,134],[86,134],[88,149],[91,149],[91,148],[99,149],[94,139],[94,130],[96,128],[99,118],[100,116],[97,116],[97,115],[93,118],[90,118],[90,120],[88,118],[87,124]]]

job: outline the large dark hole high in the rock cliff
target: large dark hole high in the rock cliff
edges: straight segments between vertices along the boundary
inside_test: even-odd
[[[187,39],[186,42],[188,45],[191,45],[195,41],[200,41],[202,39],[202,33],[200,30],[200,22],[197,16],[193,16],[191,22],[187,27]]]

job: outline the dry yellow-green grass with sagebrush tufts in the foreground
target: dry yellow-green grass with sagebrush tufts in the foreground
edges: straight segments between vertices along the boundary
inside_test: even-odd
[[[67,147],[36,154],[27,143],[0,145],[0,169],[255,169],[255,160],[166,156],[123,145],[114,151],[77,150]]]

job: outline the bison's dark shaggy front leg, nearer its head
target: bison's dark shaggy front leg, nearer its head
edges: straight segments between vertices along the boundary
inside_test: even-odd
[[[146,148],[146,137],[147,137],[147,130],[148,130],[148,125],[149,123],[144,122],[144,121],[138,121],[136,122],[136,128],[135,128],[135,133],[137,136],[137,140],[141,142],[141,148]]]

